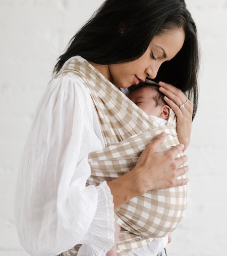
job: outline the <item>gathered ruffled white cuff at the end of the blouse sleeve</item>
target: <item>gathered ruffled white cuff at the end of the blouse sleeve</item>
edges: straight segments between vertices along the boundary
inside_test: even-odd
[[[96,187],[98,204],[94,219],[81,243],[86,255],[105,255],[114,244],[115,219],[110,189],[106,182]],[[97,253],[97,254],[96,254]]]

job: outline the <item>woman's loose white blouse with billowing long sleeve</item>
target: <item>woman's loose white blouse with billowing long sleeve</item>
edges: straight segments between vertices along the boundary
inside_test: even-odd
[[[87,155],[103,147],[82,81],[72,74],[51,80],[24,148],[15,195],[17,231],[28,253],[53,256],[82,243],[78,256],[100,256],[111,248],[115,229],[110,189],[106,182],[86,186]],[[148,245],[142,250],[156,256],[166,242],[155,240],[156,249]],[[141,255],[137,251],[127,255]]]

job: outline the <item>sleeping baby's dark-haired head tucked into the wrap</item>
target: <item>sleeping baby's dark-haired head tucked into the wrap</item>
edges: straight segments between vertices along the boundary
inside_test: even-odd
[[[129,99],[148,115],[158,116],[167,119],[170,107],[163,100],[164,95],[158,90],[159,86],[154,84],[143,84],[138,86],[129,95]]]

